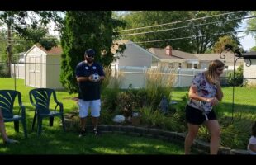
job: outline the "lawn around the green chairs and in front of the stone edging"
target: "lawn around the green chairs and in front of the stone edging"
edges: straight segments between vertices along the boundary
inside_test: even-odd
[[[125,134],[102,134],[95,137],[93,134],[82,139],[78,138],[75,131],[64,132],[60,126],[59,118],[55,118],[53,127],[49,120],[43,120],[41,136],[36,135],[36,130],[31,131],[34,115],[33,106],[29,101],[28,93],[32,87],[24,86],[24,80],[17,80],[17,91],[26,106],[26,124],[28,138],[25,139],[20,125],[20,132],[16,133],[13,123],[6,123],[7,134],[20,141],[20,144],[5,145],[0,143],[0,154],[183,154],[183,146],[171,144],[159,139],[134,137]],[[0,78],[0,89],[14,89],[12,78]],[[68,92],[57,92],[59,101],[64,103],[64,113],[77,110],[76,103],[72,100],[76,95]],[[17,102],[16,102],[17,104]],[[53,106],[53,105],[51,105]]]

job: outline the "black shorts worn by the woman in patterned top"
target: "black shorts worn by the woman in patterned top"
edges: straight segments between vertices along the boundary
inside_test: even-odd
[[[216,114],[214,111],[211,111],[207,114],[208,120],[216,120]],[[202,114],[201,110],[193,108],[192,106],[186,106],[186,120],[187,123],[192,125],[201,125],[205,120],[206,116]]]

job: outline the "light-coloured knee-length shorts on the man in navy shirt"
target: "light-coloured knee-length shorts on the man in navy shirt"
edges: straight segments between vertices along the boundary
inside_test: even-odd
[[[83,101],[83,99],[79,99],[78,101],[78,109],[79,116],[81,118],[88,116],[88,109],[90,107],[92,117],[99,117],[101,111],[101,100],[94,101]]]

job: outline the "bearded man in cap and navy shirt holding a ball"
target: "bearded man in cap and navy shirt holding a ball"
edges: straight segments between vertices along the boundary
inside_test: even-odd
[[[105,78],[102,65],[94,62],[96,53],[88,49],[84,54],[84,61],[80,62],[75,74],[78,81],[78,109],[81,121],[81,132],[79,137],[86,134],[86,119],[88,109],[91,110],[94,134],[98,134],[97,125],[101,111],[101,81]]]

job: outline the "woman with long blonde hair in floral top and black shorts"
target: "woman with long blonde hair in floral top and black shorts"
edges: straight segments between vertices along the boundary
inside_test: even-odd
[[[220,60],[211,61],[206,72],[198,73],[192,80],[188,92],[190,100],[186,106],[188,133],[185,139],[185,154],[190,153],[201,124],[205,124],[211,134],[210,153],[217,154],[220,144],[220,125],[212,110],[223,97],[220,87],[220,74],[225,64]]]

